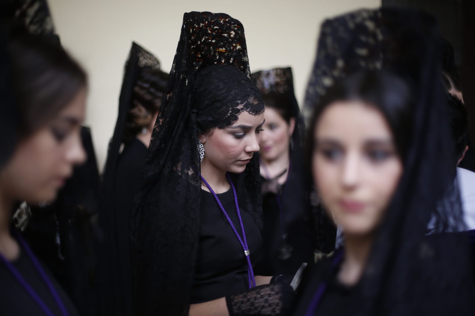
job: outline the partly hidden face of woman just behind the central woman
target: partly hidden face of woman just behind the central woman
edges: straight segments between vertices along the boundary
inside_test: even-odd
[[[264,117],[266,124],[261,137],[259,153],[265,161],[272,161],[283,154],[288,154],[290,137],[294,133],[295,118],[291,118],[287,123],[276,109],[269,107],[266,107]]]

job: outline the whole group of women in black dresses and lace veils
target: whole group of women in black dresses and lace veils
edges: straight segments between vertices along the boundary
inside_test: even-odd
[[[475,315],[468,121],[428,14],[326,20],[305,128],[290,68],[185,13],[170,73],[132,44],[102,178],[47,3],[0,14],[1,315]]]

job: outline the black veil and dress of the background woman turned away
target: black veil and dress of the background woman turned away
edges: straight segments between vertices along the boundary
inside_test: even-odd
[[[142,72],[158,72],[160,62],[140,45],[132,43],[125,64],[119,110],[114,135],[110,141],[101,184],[101,212],[99,223],[104,232],[100,244],[100,315],[138,315],[132,310],[132,281],[130,271],[129,215],[133,196],[140,182],[147,148],[133,137],[130,144],[124,143],[127,116],[133,107],[134,87]],[[147,82],[143,82],[144,85]],[[151,85],[148,87],[152,89]],[[153,87],[155,88],[155,87]]]

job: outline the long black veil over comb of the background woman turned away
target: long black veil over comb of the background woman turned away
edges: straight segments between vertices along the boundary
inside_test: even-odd
[[[133,315],[129,250],[129,213],[116,209],[115,181],[120,150],[124,142],[126,118],[133,103],[134,86],[142,71],[160,71],[159,60],[133,42],[125,63],[114,135],[109,143],[101,184],[100,225],[104,233],[99,256],[102,315]],[[132,193],[132,192],[131,192]]]

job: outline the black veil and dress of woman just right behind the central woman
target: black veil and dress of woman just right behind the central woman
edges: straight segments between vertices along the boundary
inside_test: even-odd
[[[281,104],[266,106],[287,107],[286,113],[295,119],[289,144],[290,166],[284,185],[276,179],[261,178],[263,195],[263,237],[265,260],[257,267],[263,275],[293,275],[302,262],[313,259],[313,243],[309,228],[311,218],[310,181],[304,170],[304,122],[294,93],[292,69],[274,68],[254,72],[252,79],[263,96],[280,99]],[[264,132],[266,133],[266,132]]]

